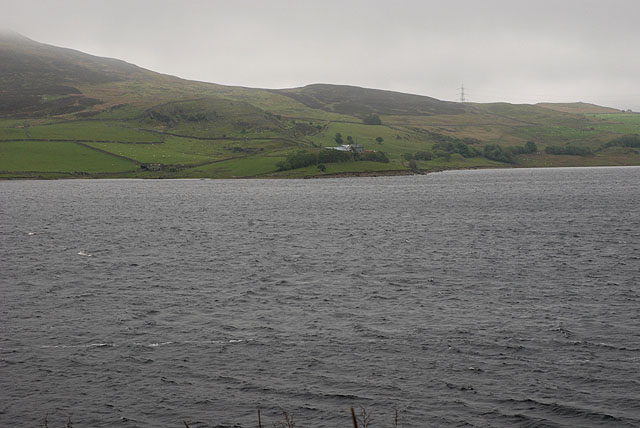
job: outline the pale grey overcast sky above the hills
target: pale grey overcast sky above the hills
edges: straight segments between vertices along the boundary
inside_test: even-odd
[[[640,111],[640,0],[0,0],[0,26],[154,71]]]

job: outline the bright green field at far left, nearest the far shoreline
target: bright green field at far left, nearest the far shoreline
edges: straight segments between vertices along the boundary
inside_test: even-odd
[[[136,168],[132,161],[72,142],[0,143],[0,171],[115,173]]]

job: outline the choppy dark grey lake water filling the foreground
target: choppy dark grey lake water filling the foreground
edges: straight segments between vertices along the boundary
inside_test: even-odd
[[[0,426],[640,426],[640,168],[0,183]]]

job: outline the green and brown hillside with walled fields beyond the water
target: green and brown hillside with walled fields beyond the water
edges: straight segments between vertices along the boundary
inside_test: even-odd
[[[635,140],[620,139],[640,133],[640,115],[606,107],[461,104],[327,84],[229,87],[18,34],[0,35],[0,95],[0,178],[640,165]],[[338,142],[365,153],[327,154]]]

